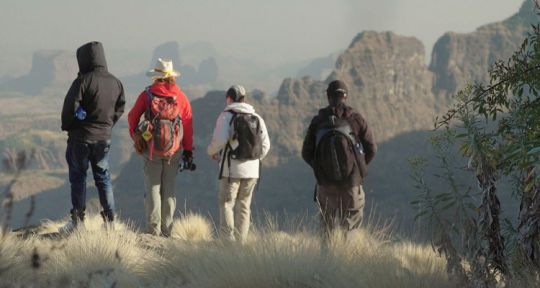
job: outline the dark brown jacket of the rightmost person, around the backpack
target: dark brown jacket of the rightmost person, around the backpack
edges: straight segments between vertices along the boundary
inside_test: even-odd
[[[362,143],[365,152],[366,163],[369,164],[371,160],[375,157],[377,153],[377,144],[375,144],[375,139],[373,138],[373,133],[369,129],[367,121],[356,112],[352,107],[346,106],[344,103],[339,103],[336,105],[330,105],[326,108],[319,110],[319,115],[315,116],[311,120],[309,125],[306,137],[304,139],[304,144],[302,146],[302,158],[306,161],[311,167],[314,167],[314,158],[316,150],[316,135],[317,131],[321,128],[321,125],[324,123],[329,116],[335,115],[341,119],[347,119],[355,135]],[[321,185],[331,185],[331,183],[322,183],[324,180],[317,179]],[[360,171],[355,171],[350,179],[350,186],[357,186],[363,183],[362,176]]]

